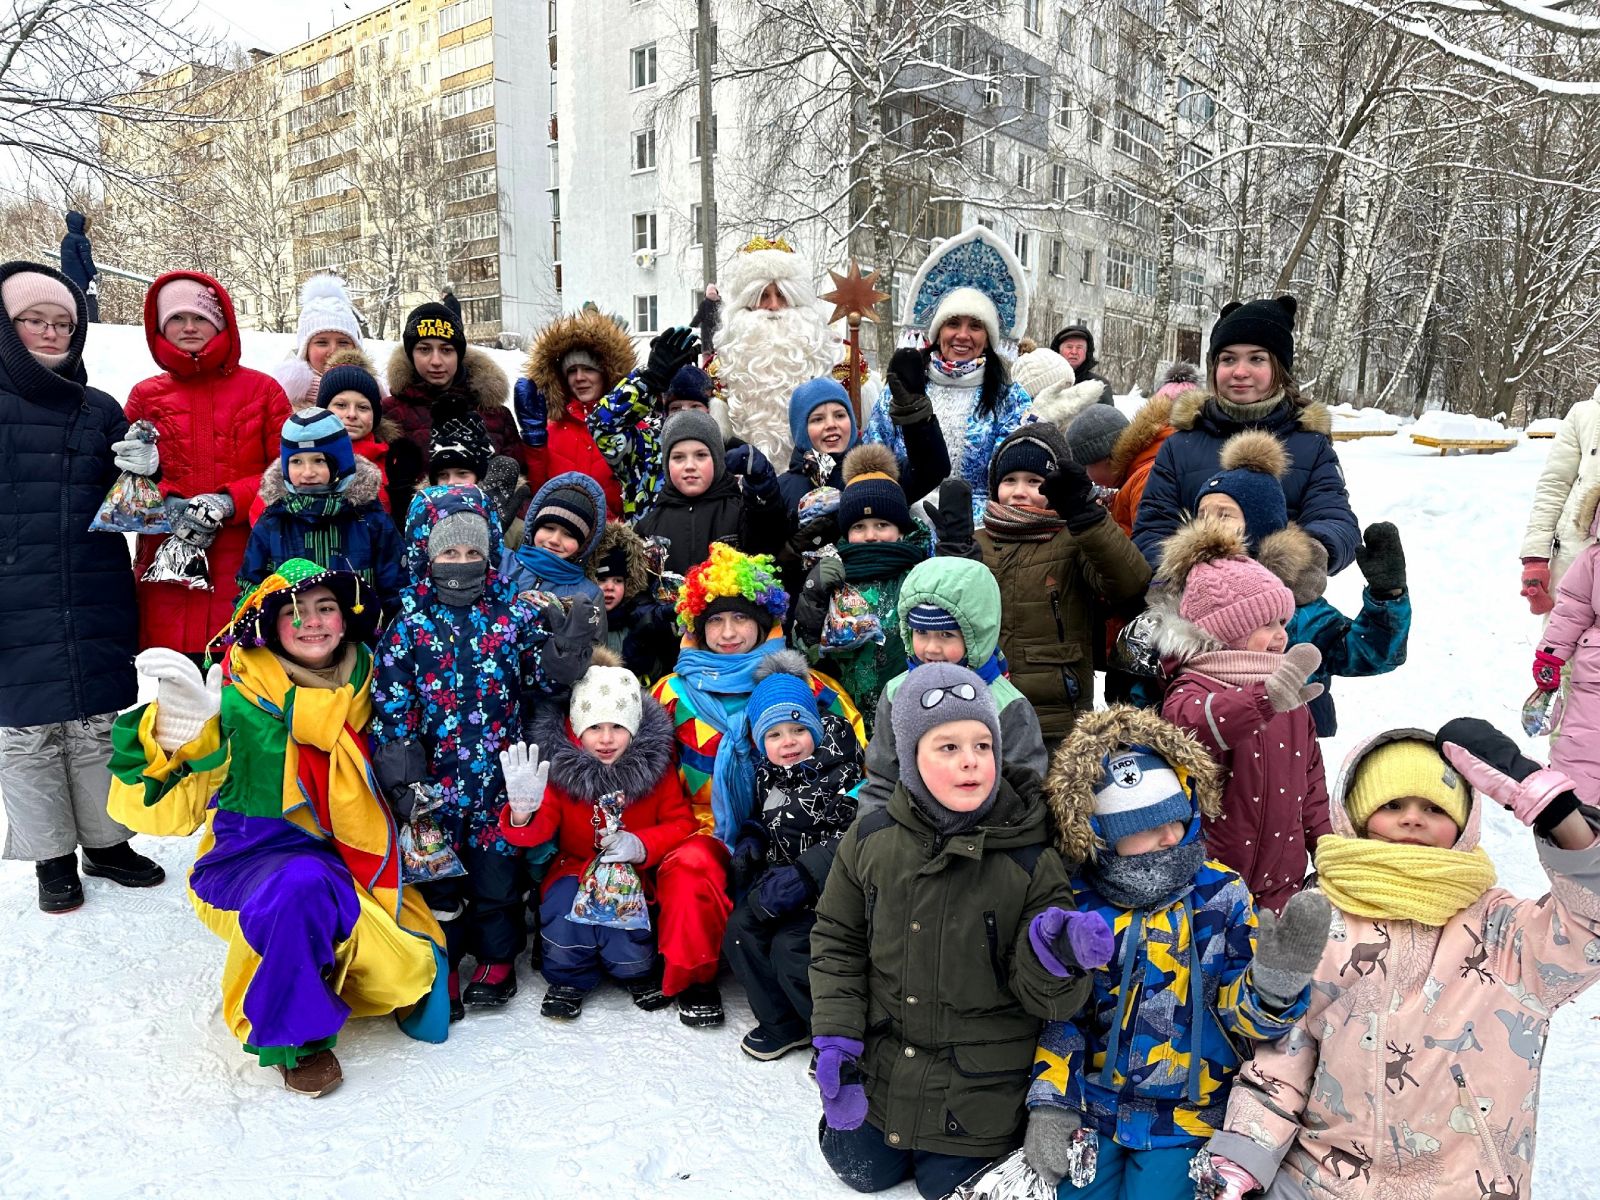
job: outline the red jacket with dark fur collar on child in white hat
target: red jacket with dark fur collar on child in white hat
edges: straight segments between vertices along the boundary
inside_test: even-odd
[[[501,834],[514,846],[539,846],[554,838],[555,861],[544,875],[541,894],[557,880],[581,874],[600,853],[595,850],[595,800],[611,790],[627,797],[622,829],[645,843],[645,861],[635,866],[650,872],[643,875],[648,890],[653,869],[694,832],[694,813],[678,779],[677,742],[666,710],[650,696],[643,698],[638,733],[611,766],[602,766],[582,749],[565,717],[547,714],[538,720],[533,739],[555,747],[544,803],[522,827],[510,822],[510,805],[506,805]]]

